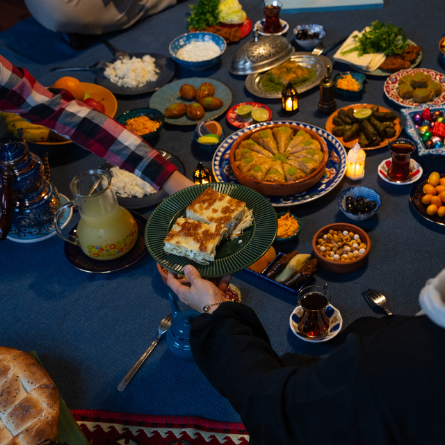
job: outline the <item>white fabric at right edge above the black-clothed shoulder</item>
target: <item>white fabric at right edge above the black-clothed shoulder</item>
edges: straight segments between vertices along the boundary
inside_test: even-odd
[[[419,302],[433,323],[445,327],[445,269],[426,282],[420,291]]]

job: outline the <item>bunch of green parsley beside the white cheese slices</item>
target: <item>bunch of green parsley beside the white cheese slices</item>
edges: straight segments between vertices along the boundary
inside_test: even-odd
[[[357,38],[358,35],[356,34],[353,37]],[[394,56],[402,54],[408,47],[407,38],[403,35],[401,28],[397,28],[390,23],[380,23],[378,20],[372,22],[370,29],[362,33],[357,42],[357,46],[343,51],[341,54],[357,51],[359,56],[372,53]]]

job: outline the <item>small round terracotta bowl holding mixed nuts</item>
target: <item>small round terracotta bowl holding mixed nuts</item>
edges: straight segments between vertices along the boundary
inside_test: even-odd
[[[316,245],[318,244],[318,239],[322,238],[323,235],[327,234],[330,230],[347,230],[348,232],[353,232],[353,234],[357,234],[359,238],[362,240],[362,242],[366,243],[366,251],[364,254],[362,254],[361,257],[358,257],[357,259],[353,259],[348,262],[341,262],[341,261],[334,261],[332,259],[327,259],[324,255],[322,255],[320,252],[318,252],[318,249],[316,248]],[[361,229],[360,227],[357,227],[356,225],[347,224],[347,223],[334,223],[330,225],[325,225],[325,227],[321,227],[316,234],[314,235],[314,238],[312,238],[312,248],[314,249],[314,257],[318,259],[318,264],[325,268],[326,270],[330,270],[330,272],[335,273],[350,273],[354,272],[355,270],[358,270],[364,264],[366,261],[368,261],[369,256],[369,250],[371,250],[371,240],[369,239],[368,234]]]

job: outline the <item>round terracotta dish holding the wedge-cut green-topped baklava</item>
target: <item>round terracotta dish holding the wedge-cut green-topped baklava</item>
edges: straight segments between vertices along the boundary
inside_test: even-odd
[[[253,179],[252,177],[245,175],[236,166],[235,151],[241,144],[241,142],[245,139],[249,139],[253,133],[264,131],[265,129],[273,129],[274,127],[282,127],[282,124],[270,124],[264,127],[252,129],[251,131],[243,133],[235,140],[232,147],[230,148],[230,154],[229,154],[230,165],[232,167],[234,175],[236,179],[238,179],[238,182],[240,184],[243,184],[243,186],[253,188],[262,195],[284,196],[284,195],[293,195],[294,193],[301,193],[302,191],[305,191],[308,188],[314,186],[325,175],[326,162],[327,162],[327,157],[329,156],[329,152],[327,150],[327,145],[325,143],[325,140],[321,136],[319,136],[315,131],[299,127],[298,125],[289,124],[289,127],[291,127],[295,132],[302,129],[306,131],[306,133],[309,133],[309,135],[313,139],[318,140],[318,142],[321,145],[321,150],[323,151],[324,154],[323,161],[318,166],[318,168],[310,175],[307,175],[302,179],[298,179],[297,181],[284,182],[282,184],[275,182],[268,182],[268,181],[259,181],[258,179]]]

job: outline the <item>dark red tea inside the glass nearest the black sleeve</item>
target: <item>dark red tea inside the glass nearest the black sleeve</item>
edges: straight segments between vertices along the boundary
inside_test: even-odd
[[[325,315],[325,307],[329,301],[317,292],[307,293],[300,299],[305,312],[298,322],[300,332],[307,337],[321,337],[329,329],[329,319]]]

